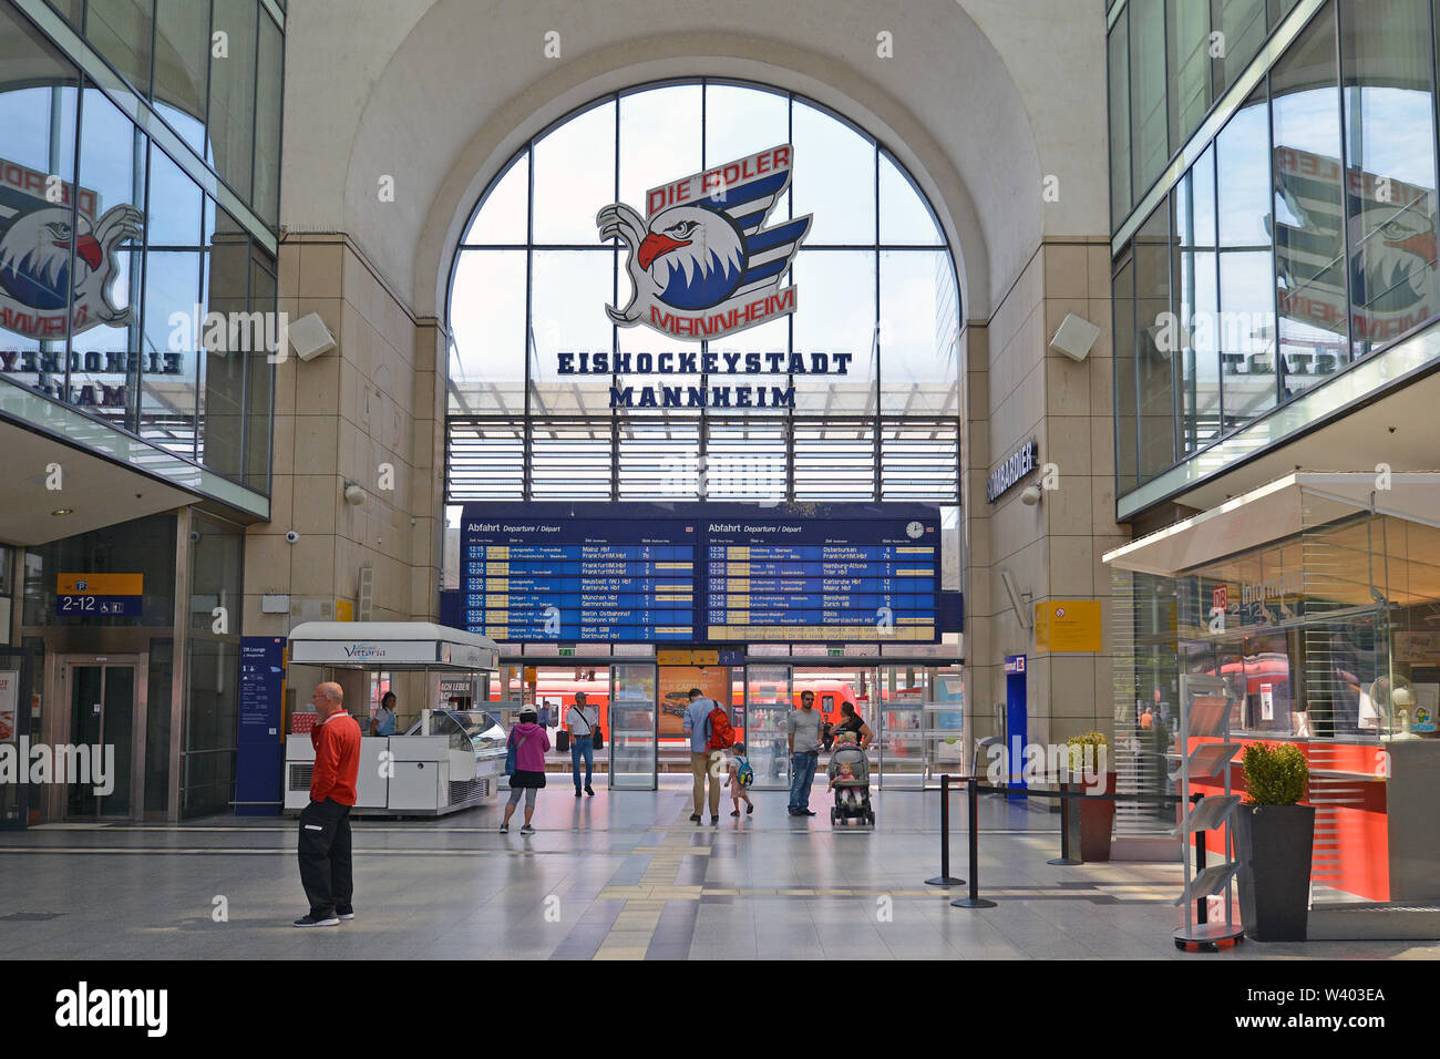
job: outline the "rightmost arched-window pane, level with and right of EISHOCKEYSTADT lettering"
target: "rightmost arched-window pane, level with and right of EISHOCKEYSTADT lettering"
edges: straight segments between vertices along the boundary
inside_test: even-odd
[[[945,251],[883,252],[880,411],[958,415],[958,356],[959,316],[950,255]]]

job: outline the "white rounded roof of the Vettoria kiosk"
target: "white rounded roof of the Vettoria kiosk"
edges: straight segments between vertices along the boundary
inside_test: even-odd
[[[289,634],[297,664],[348,669],[498,669],[500,650],[478,633],[426,621],[307,621]]]

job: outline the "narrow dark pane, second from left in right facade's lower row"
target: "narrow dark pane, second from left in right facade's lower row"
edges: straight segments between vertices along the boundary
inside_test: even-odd
[[[1140,480],[1175,463],[1174,353],[1156,341],[1169,311],[1169,202],[1155,207],[1135,233],[1135,304],[1139,330],[1135,385],[1139,396]]]

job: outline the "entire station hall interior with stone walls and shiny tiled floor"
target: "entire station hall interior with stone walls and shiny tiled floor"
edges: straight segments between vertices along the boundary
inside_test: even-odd
[[[1440,0],[0,0],[0,955],[307,955],[334,682],[331,958],[1436,958],[1437,72]]]

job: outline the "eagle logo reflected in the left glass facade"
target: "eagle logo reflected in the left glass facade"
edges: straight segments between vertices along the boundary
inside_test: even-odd
[[[26,337],[72,333],[99,324],[122,327],[134,318],[115,304],[120,245],[140,241],[144,215],[134,206],[112,206],[96,216],[98,197],[62,184],[62,202],[46,192],[46,173],[0,160],[0,320]],[[75,206],[69,203],[72,199]]]

